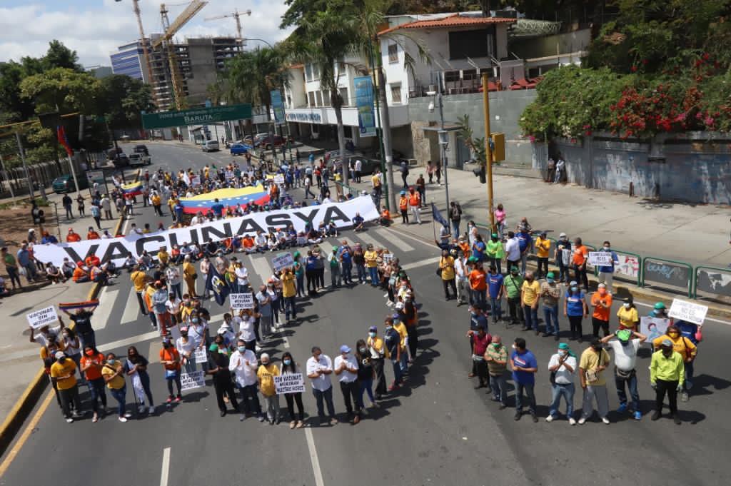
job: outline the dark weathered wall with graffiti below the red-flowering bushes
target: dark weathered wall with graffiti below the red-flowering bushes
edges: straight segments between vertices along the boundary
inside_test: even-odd
[[[609,137],[559,139],[550,153],[555,157],[560,151],[564,157],[569,182],[589,188],[629,194],[632,183],[640,197],[731,204],[731,140],[720,134],[694,138],[653,144]]]

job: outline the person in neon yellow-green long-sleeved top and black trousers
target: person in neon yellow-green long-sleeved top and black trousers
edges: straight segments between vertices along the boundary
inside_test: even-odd
[[[662,417],[662,402],[667,394],[670,402],[670,417],[680,425],[678,417],[678,392],[683,390],[685,366],[683,355],[673,350],[675,343],[668,338],[660,342],[659,350],[652,354],[650,362],[650,386],[655,390],[655,411],[650,417],[657,420]]]

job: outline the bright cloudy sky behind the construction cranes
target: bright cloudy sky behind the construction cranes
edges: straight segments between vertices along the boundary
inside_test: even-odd
[[[145,34],[162,31],[161,3],[167,5],[171,21],[185,8],[183,0],[140,0]],[[234,19],[204,19],[237,8],[251,10],[251,17],[241,18],[244,37],[276,42],[288,34],[279,30],[287,10],[284,0],[209,0],[176,38],[235,35]],[[48,42],[58,39],[76,50],[84,66],[108,66],[109,54],[118,45],[137,38],[132,0],[0,0],[0,61],[41,56]]]

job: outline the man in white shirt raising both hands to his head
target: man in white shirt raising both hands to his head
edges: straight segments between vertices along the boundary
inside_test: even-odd
[[[616,340],[613,340],[615,337]],[[640,395],[637,393],[635,363],[637,362],[637,350],[645,341],[647,341],[646,335],[626,329],[618,330],[614,334],[602,338],[602,344],[608,343],[610,348],[614,350],[614,382],[617,387],[617,397],[619,398],[617,413],[624,414],[627,411],[627,395],[624,391],[626,384],[632,398],[632,407],[629,408],[629,413],[634,415],[635,420],[642,419]]]

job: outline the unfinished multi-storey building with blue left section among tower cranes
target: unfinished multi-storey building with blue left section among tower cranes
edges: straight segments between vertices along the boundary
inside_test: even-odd
[[[235,37],[187,38],[183,43],[173,42],[172,49],[162,44],[154,47],[160,37],[162,34],[152,34],[145,39],[150,53],[152,79],[146,72],[141,42],[122,45],[110,54],[114,74],[128,75],[151,84],[160,111],[176,107],[174,76],[180,80],[179,90],[184,96],[181,105],[203,105],[208,99],[208,85],[214,83],[218,72],[225,69],[226,60],[243,51],[241,40]],[[174,63],[170,63],[170,52],[174,53]],[[178,72],[173,72],[173,69]]]

